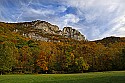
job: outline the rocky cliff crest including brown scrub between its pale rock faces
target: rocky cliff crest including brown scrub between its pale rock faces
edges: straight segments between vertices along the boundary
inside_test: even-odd
[[[41,41],[50,41],[51,38],[71,38],[74,40],[85,40],[78,30],[72,27],[64,27],[60,30],[58,26],[52,25],[46,21],[32,21],[15,23],[18,25],[15,31],[21,32],[22,35]],[[22,30],[23,29],[23,30]]]

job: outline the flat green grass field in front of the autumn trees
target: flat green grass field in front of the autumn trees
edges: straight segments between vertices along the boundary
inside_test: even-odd
[[[125,71],[81,74],[1,75],[0,83],[125,83]]]

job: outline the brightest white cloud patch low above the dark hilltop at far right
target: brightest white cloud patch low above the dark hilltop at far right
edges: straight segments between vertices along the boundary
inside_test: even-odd
[[[125,16],[119,16],[117,18],[114,18],[109,23],[107,23],[107,26],[109,27],[107,31],[104,31],[100,38],[104,38],[107,36],[121,36],[125,37]]]

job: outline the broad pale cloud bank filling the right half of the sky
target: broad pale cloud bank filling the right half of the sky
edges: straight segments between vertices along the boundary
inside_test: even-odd
[[[83,33],[90,40],[112,35],[125,36],[125,21],[120,18],[125,15],[125,0],[67,0],[64,4],[77,8],[77,17],[85,17],[84,22],[88,25],[84,22],[83,25],[89,29],[84,29]]]

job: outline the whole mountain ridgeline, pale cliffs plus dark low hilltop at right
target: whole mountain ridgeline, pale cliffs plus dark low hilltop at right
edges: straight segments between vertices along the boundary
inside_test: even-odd
[[[9,24],[7,26],[12,29],[11,31],[19,32],[25,37],[29,37],[35,40],[41,41],[52,41],[60,42],[60,39],[74,39],[78,41],[89,41],[82,35],[78,30],[72,27],[64,27],[62,30],[57,25],[53,25],[47,21],[35,20],[30,22],[18,22],[18,23],[6,23],[0,22],[3,24]],[[47,36],[48,35],[48,36]],[[48,38],[49,37],[49,38]],[[103,41],[109,43],[115,42],[125,42],[125,37],[115,37],[110,36],[99,40],[93,40],[90,42],[103,43]],[[52,39],[52,40],[51,40]]]

